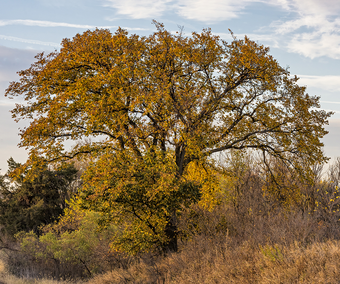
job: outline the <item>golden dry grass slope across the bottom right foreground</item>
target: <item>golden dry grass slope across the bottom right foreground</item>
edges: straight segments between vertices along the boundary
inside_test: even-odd
[[[129,269],[117,269],[97,276],[89,284],[123,283],[339,283],[340,242],[327,241],[301,248],[254,246],[244,242],[223,251],[212,243],[156,260],[139,262]]]

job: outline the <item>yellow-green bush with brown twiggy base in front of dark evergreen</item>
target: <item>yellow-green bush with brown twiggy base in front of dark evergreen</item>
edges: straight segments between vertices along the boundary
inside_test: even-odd
[[[97,232],[98,218],[98,213],[71,206],[59,222],[41,226],[40,235],[17,233],[18,245],[7,257],[11,272],[31,278],[87,278],[124,263],[124,255],[110,252],[114,228]]]

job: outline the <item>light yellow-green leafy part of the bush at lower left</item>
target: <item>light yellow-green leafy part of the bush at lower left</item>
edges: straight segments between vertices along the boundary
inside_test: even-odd
[[[63,224],[71,221],[73,225],[66,228]],[[77,265],[82,267],[85,274],[98,273],[105,266],[105,258],[109,254],[109,239],[113,236],[114,228],[109,227],[99,233],[97,228],[99,214],[95,212],[82,212],[79,209],[68,209],[60,222],[44,225],[40,228],[40,236],[33,231],[20,232],[16,238],[21,245],[21,253],[28,254],[39,262],[54,260],[57,268],[61,266]],[[74,226],[77,224],[77,226]],[[101,255],[102,240],[106,247]],[[100,256],[100,259],[98,257]]]

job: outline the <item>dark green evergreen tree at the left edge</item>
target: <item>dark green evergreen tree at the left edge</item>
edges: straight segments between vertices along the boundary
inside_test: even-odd
[[[71,164],[56,170],[44,167],[32,179],[23,174],[14,179],[11,172],[20,164],[11,158],[8,165],[8,173],[0,176],[0,224],[10,234],[21,230],[37,232],[41,224],[51,223],[63,213],[63,194],[77,171]]]

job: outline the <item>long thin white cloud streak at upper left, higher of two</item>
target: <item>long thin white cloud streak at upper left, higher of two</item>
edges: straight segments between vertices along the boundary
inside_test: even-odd
[[[0,20],[0,26],[6,25],[28,25],[28,26],[44,26],[44,27],[53,27],[53,26],[65,26],[68,28],[79,28],[79,29],[117,29],[118,26],[95,26],[95,25],[79,25],[79,24],[70,24],[70,23],[62,23],[62,22],[50,22],[50,21],[38,21],[38,20]],[[145,31],[149,29],[144,28],[130,28],[130,27],[122,27],[123,29],[130,31]]]

